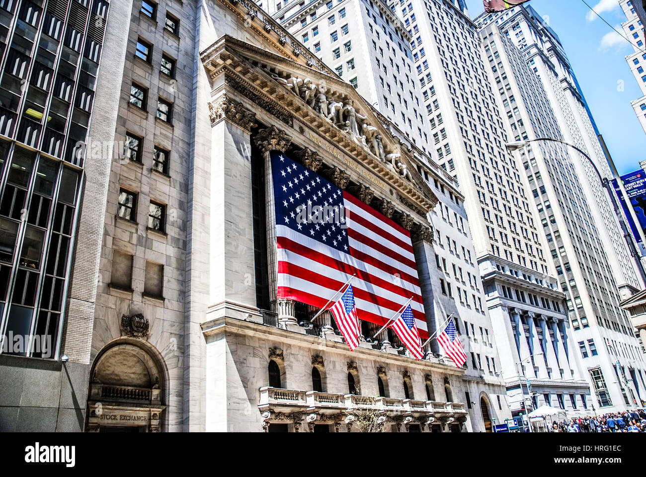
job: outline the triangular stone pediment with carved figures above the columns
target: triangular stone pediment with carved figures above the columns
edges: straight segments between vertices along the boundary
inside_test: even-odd
[[[437,204],[413,166],[412,151],[384,126],[384,118],[370,103],[333,72],[228,36],[202,52],[202,62],[212,82],[223,70],[235,72],[275,101],[278,118],[300,116],[349,156],[362,158],[421,217]]]

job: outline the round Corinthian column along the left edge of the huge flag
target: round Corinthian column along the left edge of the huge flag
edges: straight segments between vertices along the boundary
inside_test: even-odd
[[[275,125],[260,129],[255,143],[262,151],[265,161],[265,198],[267,214],[267,266],[269,267],[269,302],[270,307],[278,313],[278,321],[286,327],[287,323],[298,326],[294,316],[294,303],[289,300],[276,301],[278,289],[278,260],[276,257],[276,208],[274,204],[273,175],[271,172],[271,151],[284,153],[291,144],[291,137]],[[291,303],[288,303],[291,302]]]

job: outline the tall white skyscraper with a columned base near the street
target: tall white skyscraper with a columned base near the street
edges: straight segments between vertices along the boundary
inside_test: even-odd
[[[584,408],[589,386],[570,338],[565,294],[545,253],[523,166],[506,149],[477,28],[461,2],[399,0],[391,8],[418,54],[414,68],[437,160],[465,196],[512,414],[554,396],[564,408]]]

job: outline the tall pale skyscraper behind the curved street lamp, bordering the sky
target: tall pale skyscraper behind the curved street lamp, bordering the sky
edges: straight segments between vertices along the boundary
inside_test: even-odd
[[[601,175],[611,176],[563,47],[531,8],[478,20],[507,130],[526,143],[517,154],[596,403],[608,410],[641,407],[644,355],[619,306],[621,289],[640,284],[590,161],[555,142],[588,151]]]

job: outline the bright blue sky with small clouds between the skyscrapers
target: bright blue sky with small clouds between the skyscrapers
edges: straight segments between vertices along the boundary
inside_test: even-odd
[[[586,1],[623,34],[621,22],[626,16],[618,0]],[[484,10],[482,0],[466,3],[472,18]],[[625,59],[634,51],[632,47],[617,38],[599,17],[590,21],[590,10],[581,0],[532,0],[529,5],[542,16],[549,16],[619,173],[639,169],[640,160],[646,159],[646,134],[630,105],[630,101],[641,98]],[[623,91],[618,90],[618,81],[623,81]]]

